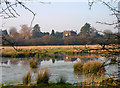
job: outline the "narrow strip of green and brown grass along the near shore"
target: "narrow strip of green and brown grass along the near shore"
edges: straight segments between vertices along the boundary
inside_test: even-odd
[[[17,84],[17,85],[5,85],[2,88],[120,88],[120,82],[115,81],[111,78],[104,79],[102,82],[81,82],[81,83],[65,83],[65,84],[57,84],[57,83],[49,83],[49,84],[34,84],[31,83],[28,85]]]

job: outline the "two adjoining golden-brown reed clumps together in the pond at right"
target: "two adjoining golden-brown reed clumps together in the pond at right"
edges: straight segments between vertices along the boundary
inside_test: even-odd
[[[85,73],[85,74],[96,74],[99,75],[105,72],[105,68],[102,65],[103,63],[94,60],[94,61],[87,61],[86,63],[77,62],[73,65],[74,72]]]

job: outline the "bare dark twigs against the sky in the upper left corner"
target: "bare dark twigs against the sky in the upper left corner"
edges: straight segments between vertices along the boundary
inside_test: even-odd
[[[35,19],[35,13],[30,8],[28,8],[22,1],[20,0],[14,0],[13,2],[10,2],[9,0],[3,0],[1,3],[1,11],[0,15],[4,19],[8,18],[17,18],[20,16],[19,12],[16,10],[16,7],[21,6],[23,9],[28,10],[30,13],[33,14],[33,18],[31,20],[30,26],[32,26],[32,23]]]

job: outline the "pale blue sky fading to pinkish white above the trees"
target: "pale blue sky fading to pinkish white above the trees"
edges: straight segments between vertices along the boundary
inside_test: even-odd
[[[86,22],[99,31],[110,29],[117,32],[114,26],[96,23],[97,21],[108,23],[116,21],[116,18],[110,15],[112,12],[109,8],[101,3],[95,3],[91,10],[88,2],[51,2],[46,4],[24,2],[24,4],[36,13],[33,26],[39,24],[42,32],[51,32],[54,29],[58,32],[74,30],[79,33]],[[117,6],[117,4],[113,5]],[[3,19],[4,29],[16,27],[19,31],[21,25],[27,24],[30,26],[33,15],[21,7],[15,7],[15,9],[20,16],[7,20]]]

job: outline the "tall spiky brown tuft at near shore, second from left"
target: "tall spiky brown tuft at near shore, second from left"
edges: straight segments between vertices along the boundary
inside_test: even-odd
[[[48,84],[49,78],[50,73],[48,72],[48,68],[46,68],[45,71],[41,69],[37,76],[37,84]]]

